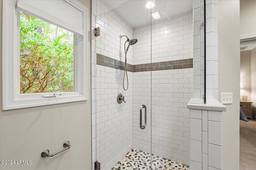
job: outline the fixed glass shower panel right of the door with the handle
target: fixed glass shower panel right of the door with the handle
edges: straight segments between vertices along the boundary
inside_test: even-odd
[[[152,8],[152,169],[188,169],[193,92],[193,1]],[[160,18],[153,14],[159,14]]]

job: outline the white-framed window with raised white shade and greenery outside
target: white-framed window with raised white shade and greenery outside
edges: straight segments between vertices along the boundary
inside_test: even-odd
[[[87,100],[87,12],[75,0],[3,1],[4,110]]]

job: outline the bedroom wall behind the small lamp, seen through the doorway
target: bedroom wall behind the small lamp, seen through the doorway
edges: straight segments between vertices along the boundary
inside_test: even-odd
[[[251,51],[240,51],[240,82],[244,86],[240,89],[240,100],[242,96],[248,96],[251,101]]]

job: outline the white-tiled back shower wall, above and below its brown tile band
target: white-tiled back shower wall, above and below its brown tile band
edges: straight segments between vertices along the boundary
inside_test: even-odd
[[[134,64],[150,63],[150,25],[134,29]],[[148,58],[149,57],[149,58]],[[193,58],[193,14],[187,12],[152,24],[152,63]],[[133,73],[133,147],[150,152],[152,95],[152,154],[189,163],[189,109],[193,68]],[[139,128],[139,109],[146,104],[148,125]],[[144,110],[143,110],[144,113]],[[144,121],[143,121],[144,122]]]

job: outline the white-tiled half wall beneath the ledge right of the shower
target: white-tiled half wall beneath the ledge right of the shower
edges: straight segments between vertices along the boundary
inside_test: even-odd
[[[190,115],[190,169],[222,169],[222,111],[190,109]]]

